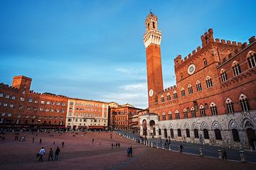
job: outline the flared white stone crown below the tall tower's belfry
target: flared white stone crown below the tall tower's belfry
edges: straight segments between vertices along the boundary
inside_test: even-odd
[[[150,29],[144,34],[144,45],[148,47],[151,43],[161,45],[161,31]]]

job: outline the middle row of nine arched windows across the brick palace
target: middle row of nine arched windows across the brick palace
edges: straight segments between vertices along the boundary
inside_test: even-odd
[[[249,106],[249,102],[247,100],[247,97],[245,95],[240,95],[240,105],[241,105],[241,108],[242,108],[242,111],[243,112],[246,112],[246,111],[249,111],[250,110],[250,106]],[[227,110],[228,110],[228,113],[234,113],[234,108],[233,108],[233,102],[230,100],[230,98],[228,98],[226,100],[226,107],[227,107]],[[201,105],[199,107],[199,111],[200,111],[200,115],[201,117],[205,117],[206,116],[206,109],[203,105]],[[212,115],[217,115],[217,107],[215,105],[215,103],[210,103],[210,113]],[[188,118],[188,111],[186,108],[183,109],[183,115],[184,115],[184,118]],[[178,113],[178,110],[175,111],[175,117],[176,119],[180,119],[180,114]],[[192,118],[196,118],[196,110],[195,108],[191,108],[191,117]],[[162,120],[166,120],[166,115],[165,113],[162,113]],[[171,114],[171,111],[169,111],[169,120],[172,120],[172,114]]]

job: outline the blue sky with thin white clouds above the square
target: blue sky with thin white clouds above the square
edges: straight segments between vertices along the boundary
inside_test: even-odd
[[[162,31],[164,87],[176,84],[174,57],[214,37],[255,35],[256,1],[0,1],[0,82],[33,79],[31,89],[147,107],[144,20]]]

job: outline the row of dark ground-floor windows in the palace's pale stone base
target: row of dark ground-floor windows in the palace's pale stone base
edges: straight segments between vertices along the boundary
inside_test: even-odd
[[[171,138],[174,139],[174,130],[171,129],[170,132],[171,132]],[[198,130],[194,129],[193,133],[194,133],[194,137],[196,139],[198,139],[199,138]],[[214,133],[215,133],[215,139],[216,140],[222,140],[221,132],[220,132],[219,129],[215,129]],[[161,135],[161,129],[159,129],[159,135]],[[182,136],[181,129],[177,129],[177,135],[178,135],[178,137]],[[240,142],[240,137],[239,137],[239,133],[238,133],[237,129],[232,129],[232,135],[233,135],[234,142]],[[167,130],[166,129],[164,129],[164,137],[167,138]],[[186,137],[191,137],[189,129],[186,129]],[[203,129],[203,138],[206,139],[206,140],[210,139],[209,132],[208,132],[207,129]]]

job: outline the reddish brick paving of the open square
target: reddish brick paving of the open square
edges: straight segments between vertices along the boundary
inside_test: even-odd
[[[68,132],[38,132],[38,136],[23,132],[26,142],[14,140],[14,134],[5,135],[0,141],[0,169],[256,169],[256,164],[242,164],[225,160],[197,157],[188,154],[170,152],[163,149],[144,147],[132,140],[110,132],[79,132],[73,137]],[[54,135],[50,137],[50,135]],[[32,143],[32,137],[35,142]],[[42,145],[39,140],[42,138]],[[95,142],[92,143],[92,138]],[[55,145],[53,145],[55,141]],[[61,142],[65,142],[61,147]],[[120,142],[120,148],[111,148],[112,143]],[[100,145],[101,143],[101,145]],[[48,162],[50,147],[60,147],[58,162]],[[127,157],[127,147],[134,148],[134,157]],[[43,162],[38,162],[36,154],[44,147],[46,155]]]

